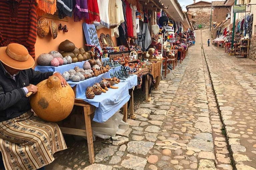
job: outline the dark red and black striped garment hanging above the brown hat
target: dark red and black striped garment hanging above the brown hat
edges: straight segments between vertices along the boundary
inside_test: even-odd
[[[0,1],[0,21],[0,46],[7,46],[10,43],[22,44],[35,59],[37,38],[35,1]]]

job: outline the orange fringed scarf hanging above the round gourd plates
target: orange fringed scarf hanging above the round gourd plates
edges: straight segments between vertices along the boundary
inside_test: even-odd
[[[56,0],[36,0],[36,14],[42,16],[44,14],[54,14],[57,10]]]

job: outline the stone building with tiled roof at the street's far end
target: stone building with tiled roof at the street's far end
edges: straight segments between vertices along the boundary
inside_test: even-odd
[[[191,18],[195,21],[194,27],[195,29],[199,28],[209,28],[210,27],[210,19],[211,19],[211,3],[206,1],[195,2],[186,6],[189,14],[194,16]]]

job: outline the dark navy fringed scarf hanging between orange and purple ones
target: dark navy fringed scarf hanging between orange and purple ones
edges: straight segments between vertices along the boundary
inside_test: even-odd
[[[65,18],[66,16],[72,17],[73,1],[70,0],[57,0],[57,8],[59,12],[59,18]]]

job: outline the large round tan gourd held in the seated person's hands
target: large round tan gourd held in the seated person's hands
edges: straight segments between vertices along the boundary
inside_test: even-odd
[[[30,105],[41,119],[58,122],[69,116],[75,101],[74,91],[69,85],[62,87],[60,79],[51,76],[37,87],[37,93],[30,97]]]

